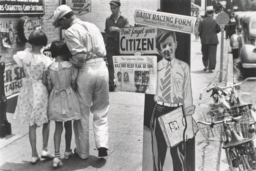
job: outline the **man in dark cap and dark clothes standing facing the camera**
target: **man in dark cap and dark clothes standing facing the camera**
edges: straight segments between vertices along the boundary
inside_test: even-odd
[[[121,15],[120,0],[110,1],[110,10],[112,15],[106,19],[106,50],[107,50],[107,63],[109,69],[109,90],[114,91],[114,65],[112,56],[120,55],[119,53],[119,30],[123,27],[129,27],[129,21],[126,17]]]

